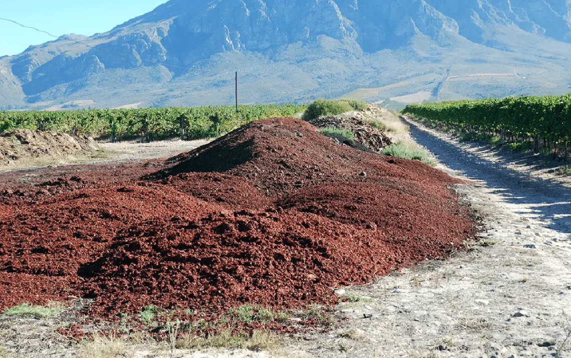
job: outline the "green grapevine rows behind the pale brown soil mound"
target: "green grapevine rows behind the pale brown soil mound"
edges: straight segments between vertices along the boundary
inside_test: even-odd
[[[65,111],[0,112],[0,133],[13,129],[55,130],[112,140],[144,137],[187,140],[216,137],[251,121],[292,117],[299,105],[207,106],[195,108],[89,109]]]

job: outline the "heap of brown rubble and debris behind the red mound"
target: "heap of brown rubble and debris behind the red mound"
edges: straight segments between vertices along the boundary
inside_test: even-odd
[[[391,138],[383,131],[367,124],[361,113],[351,114],[351,116],[341,114],[334,117],[321,117],[309,122],[317,128],[350,130],[354,133],[356,142],[373,152],[382,152],[385,147],[392,144]]]

